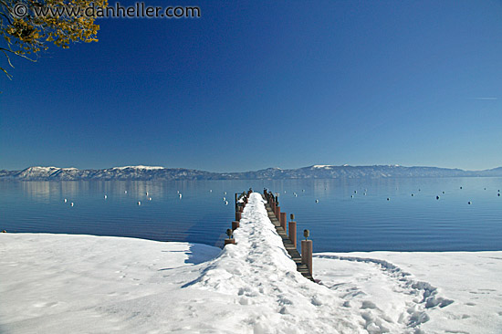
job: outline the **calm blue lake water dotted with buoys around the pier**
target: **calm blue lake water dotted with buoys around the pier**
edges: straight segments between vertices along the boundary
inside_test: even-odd
[[[234,194],[249,187],[278,193],[281,211],[296,215],[298,240],[308,228],[315,252],[502,250],[502,178],[4,181],[0,229],[222,246]]]

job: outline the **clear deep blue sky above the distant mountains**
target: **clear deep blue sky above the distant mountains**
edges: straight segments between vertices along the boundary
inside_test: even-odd
[[[160,3],[13,59],[0,169],[502,165],[499,1]]]

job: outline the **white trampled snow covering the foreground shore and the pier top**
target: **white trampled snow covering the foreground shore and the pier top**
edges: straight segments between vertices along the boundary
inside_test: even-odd
[[[0,234],[0,332],[502,328],[502,252],[317,254],[316,284],[296,271],[257,193],[234,236],[236,245],[220,250],[119,237]]]

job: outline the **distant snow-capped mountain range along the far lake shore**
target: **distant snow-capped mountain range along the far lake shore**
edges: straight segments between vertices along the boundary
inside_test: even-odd
[[[473,177],[502,176],[502,167],[484,171],[464,171],[438,167],[400,165],[313,165],[298,169],[267,168],[251,172],[204,172],[184,168],[152,166],[113,167],[102,170],[29,167],[22,171],[0,170],[0,180],[80,181],[80,180],[282,180],[337,178]]]

